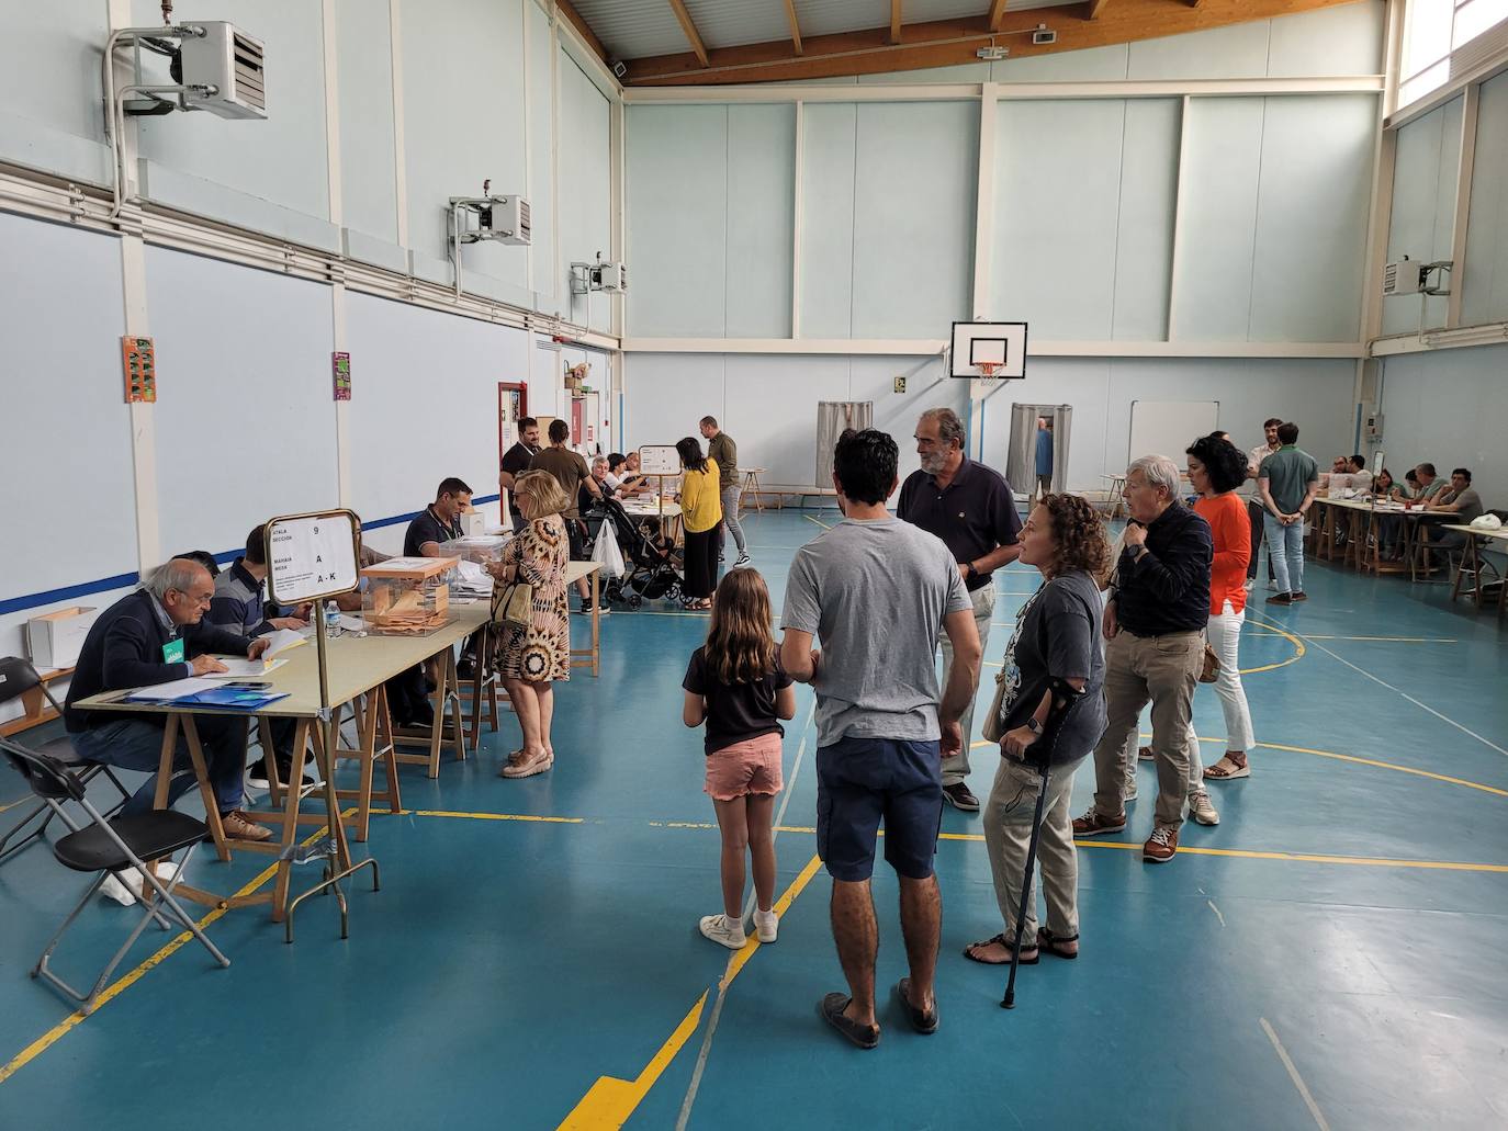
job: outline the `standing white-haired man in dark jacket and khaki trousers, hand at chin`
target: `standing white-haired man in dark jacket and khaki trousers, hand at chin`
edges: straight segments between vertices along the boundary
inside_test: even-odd
[[[1188,796],[1188,721],[1205,659],[1209,620],[1209,523],[1178,502],[1178,464],[1143,455],[1126,470],[1125,549],[1105,605],[1105,712],[1095,748],[1095,804],[1074,822],[1093,837],[1126,826],[1122,751],[1152,701],[1157,814],[1142,858],[1161,864],[1178,852]]]

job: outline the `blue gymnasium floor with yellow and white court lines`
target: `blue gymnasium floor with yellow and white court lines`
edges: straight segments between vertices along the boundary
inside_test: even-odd
[[[817,517],[746,520],[777,608]],[[998,578],[986,662],[1036,576]],[[511,716],[437,781],[404,768],[424,813],[374,819],[383,891],[354,885],[347,942],[323,900],[291,947],[261,908],[214,921],[226,971],[196,944],[152,961],[164,936],[149,930],[128,985],[80,1019],[26,976],[80,878],[39,847],[0,869],[0,1128],[553,1128],[573,1111],[575,1126],[630,1128],[683,1111],[707,1128],[1508,1125],[1505,633],[1443,587],[1316,566],[1306,588],[1294,609],[1258,600],[1247,624],[1271,745],[1250,780],[1211,787],[1223,823],[1185,825],[1176,861],[1143,864],[1143,768],[1131,835],[1080,854],[1083,956],[1024,968],[1015,1012],[998,1007],[1003,971],[959,955],[1000,918],[979,820],[949,810],[941,1031],[912,1034],[887,998],[866,1054],[817,1019],[843,982],[813,857],[805,688],[786,739],[780,942],[730,968],[697,933],[718,909],[718,834],[700,737],[680,725],[704,618],[620,612],[600,680],[559,692],[550,774],[496,777]],[[1196,722],[1218,757],[1209,689]],[[995,759],[974,752],[980,795]],[[17,786],[6,769],[0,805]],[[1083,772],[1075,811],[1090,793]],[[201,854],[193,879],[235,890],[264,863]],[[888,989],[905,973],[896,884],[879,869],[875,887]],[[97,902],[59,968],[97,971],[136,914]]]

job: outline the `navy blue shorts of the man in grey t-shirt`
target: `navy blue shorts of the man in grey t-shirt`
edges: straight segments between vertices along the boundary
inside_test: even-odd
[[[817,854],[849,884],[875,870],[885,822],[885,861],[908,879],[932,875],[942,823],[938,743],[847,737],[817,749]]]

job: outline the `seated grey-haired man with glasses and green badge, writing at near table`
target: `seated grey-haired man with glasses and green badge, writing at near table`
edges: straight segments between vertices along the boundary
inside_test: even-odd
[[[125,802],[122,814],[152,808],[164,716],[80,710],[75,704],[106,691],[125,691],[225,671],[225,665],[208,654],[213,651],[250,659],[261,656],[267,650],[265,639],[247,639],[240,633],[204,623],[204,614],[213,597],[214,581],[210,572],[198,562],[173,558],[152,570],[142,588],[106,609],[84,638],[74,679],[68,686],[63,722],[83,757],[151,774],[146,784]],[[204,746],[205,769],[214,787],[225,835],[232,840],[271,838],[270,828],[256,825],[241,811],[246,718],[196,715],[195,727]],[[193,786],[188,742],[179,731],[167,804],[172,805]]]

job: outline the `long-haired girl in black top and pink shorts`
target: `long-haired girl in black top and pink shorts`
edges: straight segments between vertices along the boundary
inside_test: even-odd
[[[712,605],[707,642],[691,654],[682,682],[688,727],[707,724],[707,793],[722,831],[722,914],[704,915],[701,933],[730,950],[743,935],[743,851],[754,861],[754,930],[774,942],[775,795],[780,719],[796,713],[796,689],[780,670],[769,590],[757,570],[728,570]]]

